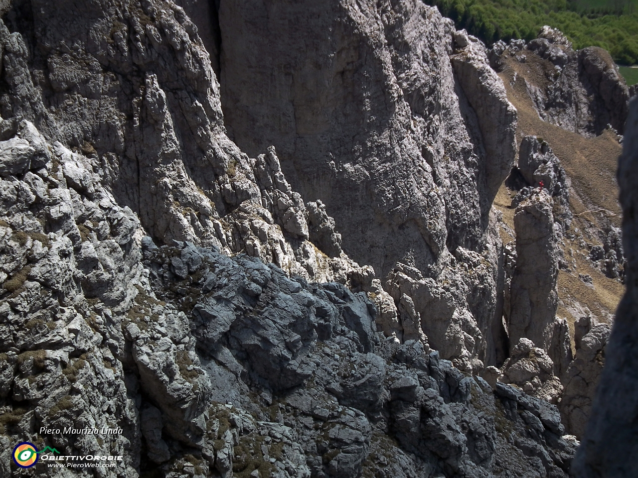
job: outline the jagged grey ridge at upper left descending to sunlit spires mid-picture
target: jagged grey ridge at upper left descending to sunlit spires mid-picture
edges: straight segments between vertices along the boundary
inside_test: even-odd
[[[203,2],[189,9],[207,17]],[[211,55],[181,7],[98,2],[83,4],[72,17],[43,1],[29,25],[18,14],[6,18],[15,33],[0,25],[9,65],[4,118],[24,117],[50,140],[82,150],[99,181],[161,241],[214,245],[289,273],[347,280],[357,266],[340,258],[334,231],[322,242],[330,257],[308,242],[308,212],[276,152],[263,148],[263,156],[249,159],[226,137]],[[19,33],[27,27],[34,31],[29,40]],[[32,74],[29,63],[47,67]],[[5,156],[17,164],[3,171],[19,173],[29,166],[24,134],[31,133],[20,129],[10,139],[15,131],[5,130],[3,148],[11,150]],[[41,163],[49,153],[33,144],[39,153],[32,161]],[[315,227],[330,229],[327,217]]]

